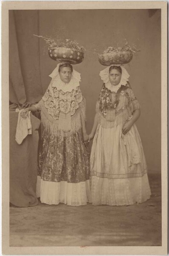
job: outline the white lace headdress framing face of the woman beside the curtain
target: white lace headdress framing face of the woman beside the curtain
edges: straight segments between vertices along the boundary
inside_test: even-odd
[[[76,87],[80,86],[80,73],[73,69],[72,78],[69,83],[64,83],[59,76],[59,66],[60,64],[66,64],[66,62],[60,62],[57,67],[49,75],[52,78],[52,87],[56,87],[57,90],[62,90],[64,93],[71,92]]]

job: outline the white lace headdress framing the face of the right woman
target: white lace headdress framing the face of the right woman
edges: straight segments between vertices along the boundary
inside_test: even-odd
[[[120,80],[120,83],[117,85],[112,85],[109,80],[109,68],[112,66],[121,67],[121,70],[122,70],[121,80]],[[120,88],[121,85],[126,85],[127,81],[129,81],[129,73],[123,66],[121,66],[119,64],[113,64],[113,65],[110,65],[109,67],[106,67],[105,69],[101,70],[100,77],[103,80],[103,82],[105,83],[106,88],[108,88],[109,90],[111,90],[112,92],[115,92],[115,93],[117,93],[117,90]]]

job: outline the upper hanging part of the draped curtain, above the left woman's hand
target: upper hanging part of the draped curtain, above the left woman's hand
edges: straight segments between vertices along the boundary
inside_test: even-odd
[[[9,11],[9,100],[23,105],[43,96],[40,78],[38,10]]]

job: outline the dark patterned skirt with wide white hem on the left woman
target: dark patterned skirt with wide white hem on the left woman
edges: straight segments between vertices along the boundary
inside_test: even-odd
[[[42,203],[86,204],[89,175],[89,145],[83,143],[81,129],[69,137],[44,131],[39,154],[40,186],[37,185]]]

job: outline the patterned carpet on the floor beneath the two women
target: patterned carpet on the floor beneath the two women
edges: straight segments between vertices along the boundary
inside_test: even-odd
[[[161,246],[160,175],[152,197],[127,207],[10,207],[10,246]]]

